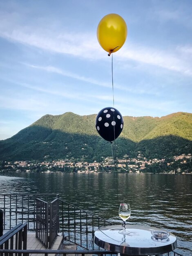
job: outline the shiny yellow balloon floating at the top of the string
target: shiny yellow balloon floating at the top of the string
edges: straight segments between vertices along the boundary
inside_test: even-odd
[[[127,25],[121,16],[110,13],[104,16],[97,27],[97,39],[106,52],[116,52],[125,43]]]

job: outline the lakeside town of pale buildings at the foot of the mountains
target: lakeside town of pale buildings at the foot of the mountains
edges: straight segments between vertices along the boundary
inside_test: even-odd
[[[169,173],[192,174],[191,154],[174,156],[170,159],[146,159],[140,152],[136,158],[125,155],[123,159],[103,158],[98,163],[84,159],[59,159],[45,161],[1,161],[0,172],[67,172],[67,173]]]

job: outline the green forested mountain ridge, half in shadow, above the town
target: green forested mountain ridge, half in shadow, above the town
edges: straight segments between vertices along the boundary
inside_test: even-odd
[[[0,141],[0,160],[86,159],[100,161],[112,155],[110,142],[95,128],[96,115],[72,112],[45,115],[9,139]],[[192,114],[165,117],[123,117],[124,127],[116,139],[116,157],[150,158],[192,153]]]

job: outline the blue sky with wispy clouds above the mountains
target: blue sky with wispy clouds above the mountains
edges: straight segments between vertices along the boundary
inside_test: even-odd
[[[0,0],[0,139],[46,114],[161,117],[192,112],[191,0]],[[127,39],[112,56],[100,20],[117,13]]]

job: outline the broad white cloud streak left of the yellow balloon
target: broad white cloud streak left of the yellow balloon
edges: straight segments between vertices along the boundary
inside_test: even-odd
[[[23,26],[17,24],[17,16],[10,13],[0,13],[0,36],[7,40],[31,45],[46,51],[70,54],[81,58],[102,58],[96,36],[86,33],[69,33],[67,31],[48,31],[44,28]],[[11,22],[12,21],[12,22]],[[97,52],[97,54],[94,54]]]

